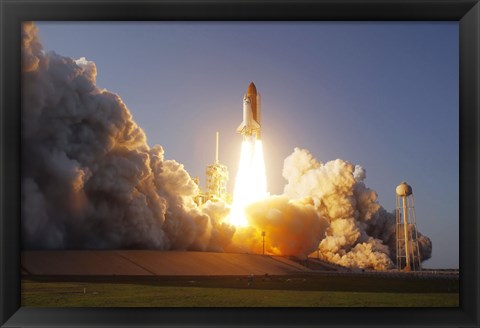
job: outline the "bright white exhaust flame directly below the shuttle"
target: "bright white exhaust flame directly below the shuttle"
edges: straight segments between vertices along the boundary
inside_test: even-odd
[[[238,173],[233,190],[233,204],[229,221],[237,227],[248,225],[244,209],[247,205],[265,199],[267,176],[261,140],[243,140]]]

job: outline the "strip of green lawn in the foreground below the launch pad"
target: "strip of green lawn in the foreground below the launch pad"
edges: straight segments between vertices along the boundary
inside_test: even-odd
[[[22,281],[22,306],[41,307],[458,307],[458,292],[353,292],[147,283]],[[84,293],[85,288],[85,293]]]

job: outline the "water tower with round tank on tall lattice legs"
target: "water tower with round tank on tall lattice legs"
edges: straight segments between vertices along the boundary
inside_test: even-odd
[[[397,205],[395,210],[397,237],[397,269],[405,271],[421,270],[420,249],[418,247],[417,217],[412,187],[405,181],[395,189]]]

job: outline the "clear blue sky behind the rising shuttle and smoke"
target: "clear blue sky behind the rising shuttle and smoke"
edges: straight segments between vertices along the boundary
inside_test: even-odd
[[[262,96],[271,194],[283,191],[294,147],[322,162],[362,165],[388,211],[413,187],[426,267],[459,263],[457,22],[37,22],[46,51],[97,65],[97,85],[121,96],[150,145],[205,184],[215,157],[233,189],[242,98]]]

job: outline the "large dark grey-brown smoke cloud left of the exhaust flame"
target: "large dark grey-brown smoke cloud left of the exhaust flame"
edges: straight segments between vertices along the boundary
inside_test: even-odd
[[[46,54],[33,23],[22,37],[24,247],[223,250],[228,209],[194,203],[198,186],[96,87],[95,64]]]

